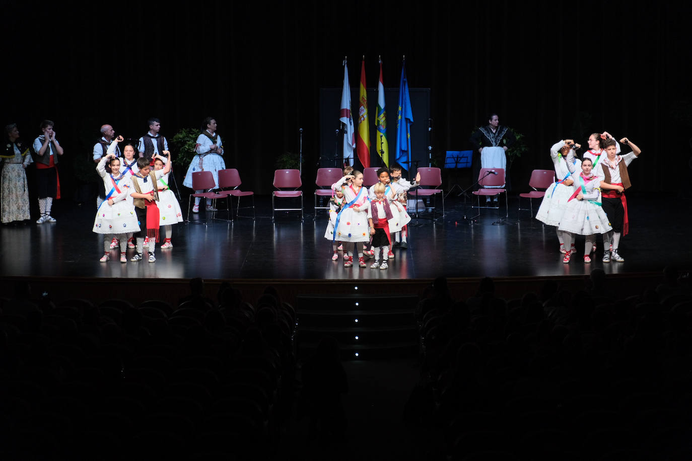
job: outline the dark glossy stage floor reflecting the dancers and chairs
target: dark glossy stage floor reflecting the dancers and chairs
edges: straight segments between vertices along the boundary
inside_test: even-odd
[[[529,211],[518,218],[516,197],[509,198],[509,218],[498,224],[493,209],[482,209],[476,223],[464,220],[475,214],[452,195],[446,216],[433,222],[415,219],[410,226],[408,250],[396,249],[388,270],[343,267],[331,261],[331,244],[323,238],[327,216],[313,221],[312,196],[307,195],[303,223],[295,212],[282,212],[271,220],[271,199],[257,197],[257,220],[209,225],[174,226],[172,250],[156,250],[156,263],[100,263],[102,238],[91,232],[94,205],[79,206],[60,200],[54,206],[55,224],[0,227],[2,275],[126,277],[184,279],[432,279],[477,276],[560,276],[588,274],[603,267],[608,274],[658,272],[670,263],[688,265],[691,216],[689,203],[662,202],[658,197],[630,194],[631,234],[620,253],[624,263],[583,263],[581,252],[569,264],[562,262],[554,227],[543,226]],[[675,202],[675,203],[674,203]],[[534,213],[538,202],[534,203]],[[440,210],[440,209],[439,209]],[[682,211],[682,212],[681,212]],[[184,213],[183,213],[184,214]],[[225,216],[221,213],[221,216]],[[197,218],[203,218],[200,214]],[[581,247],[578,243],[578,248]],[[134,250],[128,251],[128,257]]]

